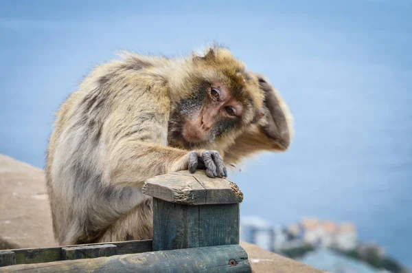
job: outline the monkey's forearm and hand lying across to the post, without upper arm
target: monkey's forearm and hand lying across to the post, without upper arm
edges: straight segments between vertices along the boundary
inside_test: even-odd
[[[227,176],[216,151],[185,151],[141,140],[124,140],[108,153],[103,182],[113,186],[142,185],[156,175],[205,169],[209,177]]]

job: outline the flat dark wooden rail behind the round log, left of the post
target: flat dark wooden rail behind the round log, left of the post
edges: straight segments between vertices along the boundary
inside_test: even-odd
[[[106,243],[89,243],[85,245],[104,245]],[[132,254],[152,251],[152,240],[121,241],[111,243],[117,246],[117,254]],[[62,248],[85,245],[65,245],[58,248],[30,248],[12,250],[16,254],[16,264],[21,263],[48,263],[62,259]],[[0,265],[1,266],[1,265]]]

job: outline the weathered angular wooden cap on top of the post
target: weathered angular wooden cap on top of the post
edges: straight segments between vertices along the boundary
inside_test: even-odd
[[[239,204],[243,194],[227,178],[209,178],[205,171],[179,171],[146,180],[143,193],[184,205]]]

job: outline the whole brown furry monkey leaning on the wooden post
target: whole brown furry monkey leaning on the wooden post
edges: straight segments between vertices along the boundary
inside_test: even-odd
[[[60,245],[151,239],[146,179],[227,177],[227,166],[286,151],[293,137],[279,92],[227,47],[120,57],[95,66],[56,111],[45,173]]]

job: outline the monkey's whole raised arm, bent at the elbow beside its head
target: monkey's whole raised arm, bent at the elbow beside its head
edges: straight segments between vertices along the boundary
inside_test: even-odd
[[[279,92],[267,78],[256,74],[265,92],[264,116],[236,139],[225,151],[225,163],[237,163],[242,158],[260,151],[286,151],[293,137],[293,116]]]

